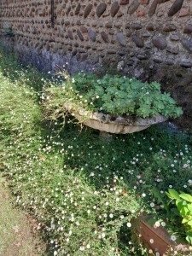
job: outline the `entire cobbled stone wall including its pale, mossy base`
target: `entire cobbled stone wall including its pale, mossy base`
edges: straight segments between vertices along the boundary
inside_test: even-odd
[[[52,19],[50,0],[1,0],[0,33],[9,27],[15,37],[3,42],[24,61],[159,80],[192,119],[191,0],[54,0]]]

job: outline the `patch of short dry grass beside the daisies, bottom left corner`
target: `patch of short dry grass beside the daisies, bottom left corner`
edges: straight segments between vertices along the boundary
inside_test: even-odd
[[[47,255],[46,244],[33,232],[25,212],[13,206],[8,184],[0,173],[0,255]],[[33,220],[33,219],[32,219]],[[34,222],[33,222],[34,223]]]

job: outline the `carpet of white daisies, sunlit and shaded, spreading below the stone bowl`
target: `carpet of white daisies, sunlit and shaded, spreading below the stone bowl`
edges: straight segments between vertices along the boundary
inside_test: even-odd
[[[3,55],[0,69],[1,170],[52,254],[147,255],[131,236],[131,218],[143,211],[172,240],[185,236],[165,192],[191,193],[191,137],[158,126],[106,143],[71,119],[61,130],[60,119],[42,122],[49,81]]]

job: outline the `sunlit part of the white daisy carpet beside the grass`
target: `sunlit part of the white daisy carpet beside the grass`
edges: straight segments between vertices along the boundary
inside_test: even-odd
[[[83,170],[66,166],[64,139],[58,143],[55,129],[42,129],[37,93],[26,86],[27,79],[11,84],[0,73],[0,83],[1,169],[16,203],[38,219],[38,229],[49,237],[52,253],[131,252],[134,246],[125,246],[119,237],[126,234],[131,242],[131,219],[142,210],[135,193],[115,174],[114,183],[97,189]]]

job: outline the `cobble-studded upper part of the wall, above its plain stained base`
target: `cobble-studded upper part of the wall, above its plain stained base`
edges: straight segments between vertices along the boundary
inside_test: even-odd
[[[190,0],[55,0],[54,28],[50,6],[50,0],[1,0],[1,33],[12,27],[17,44],[81,61],[107,56],[127,65],[150,59],[192,67]]]

